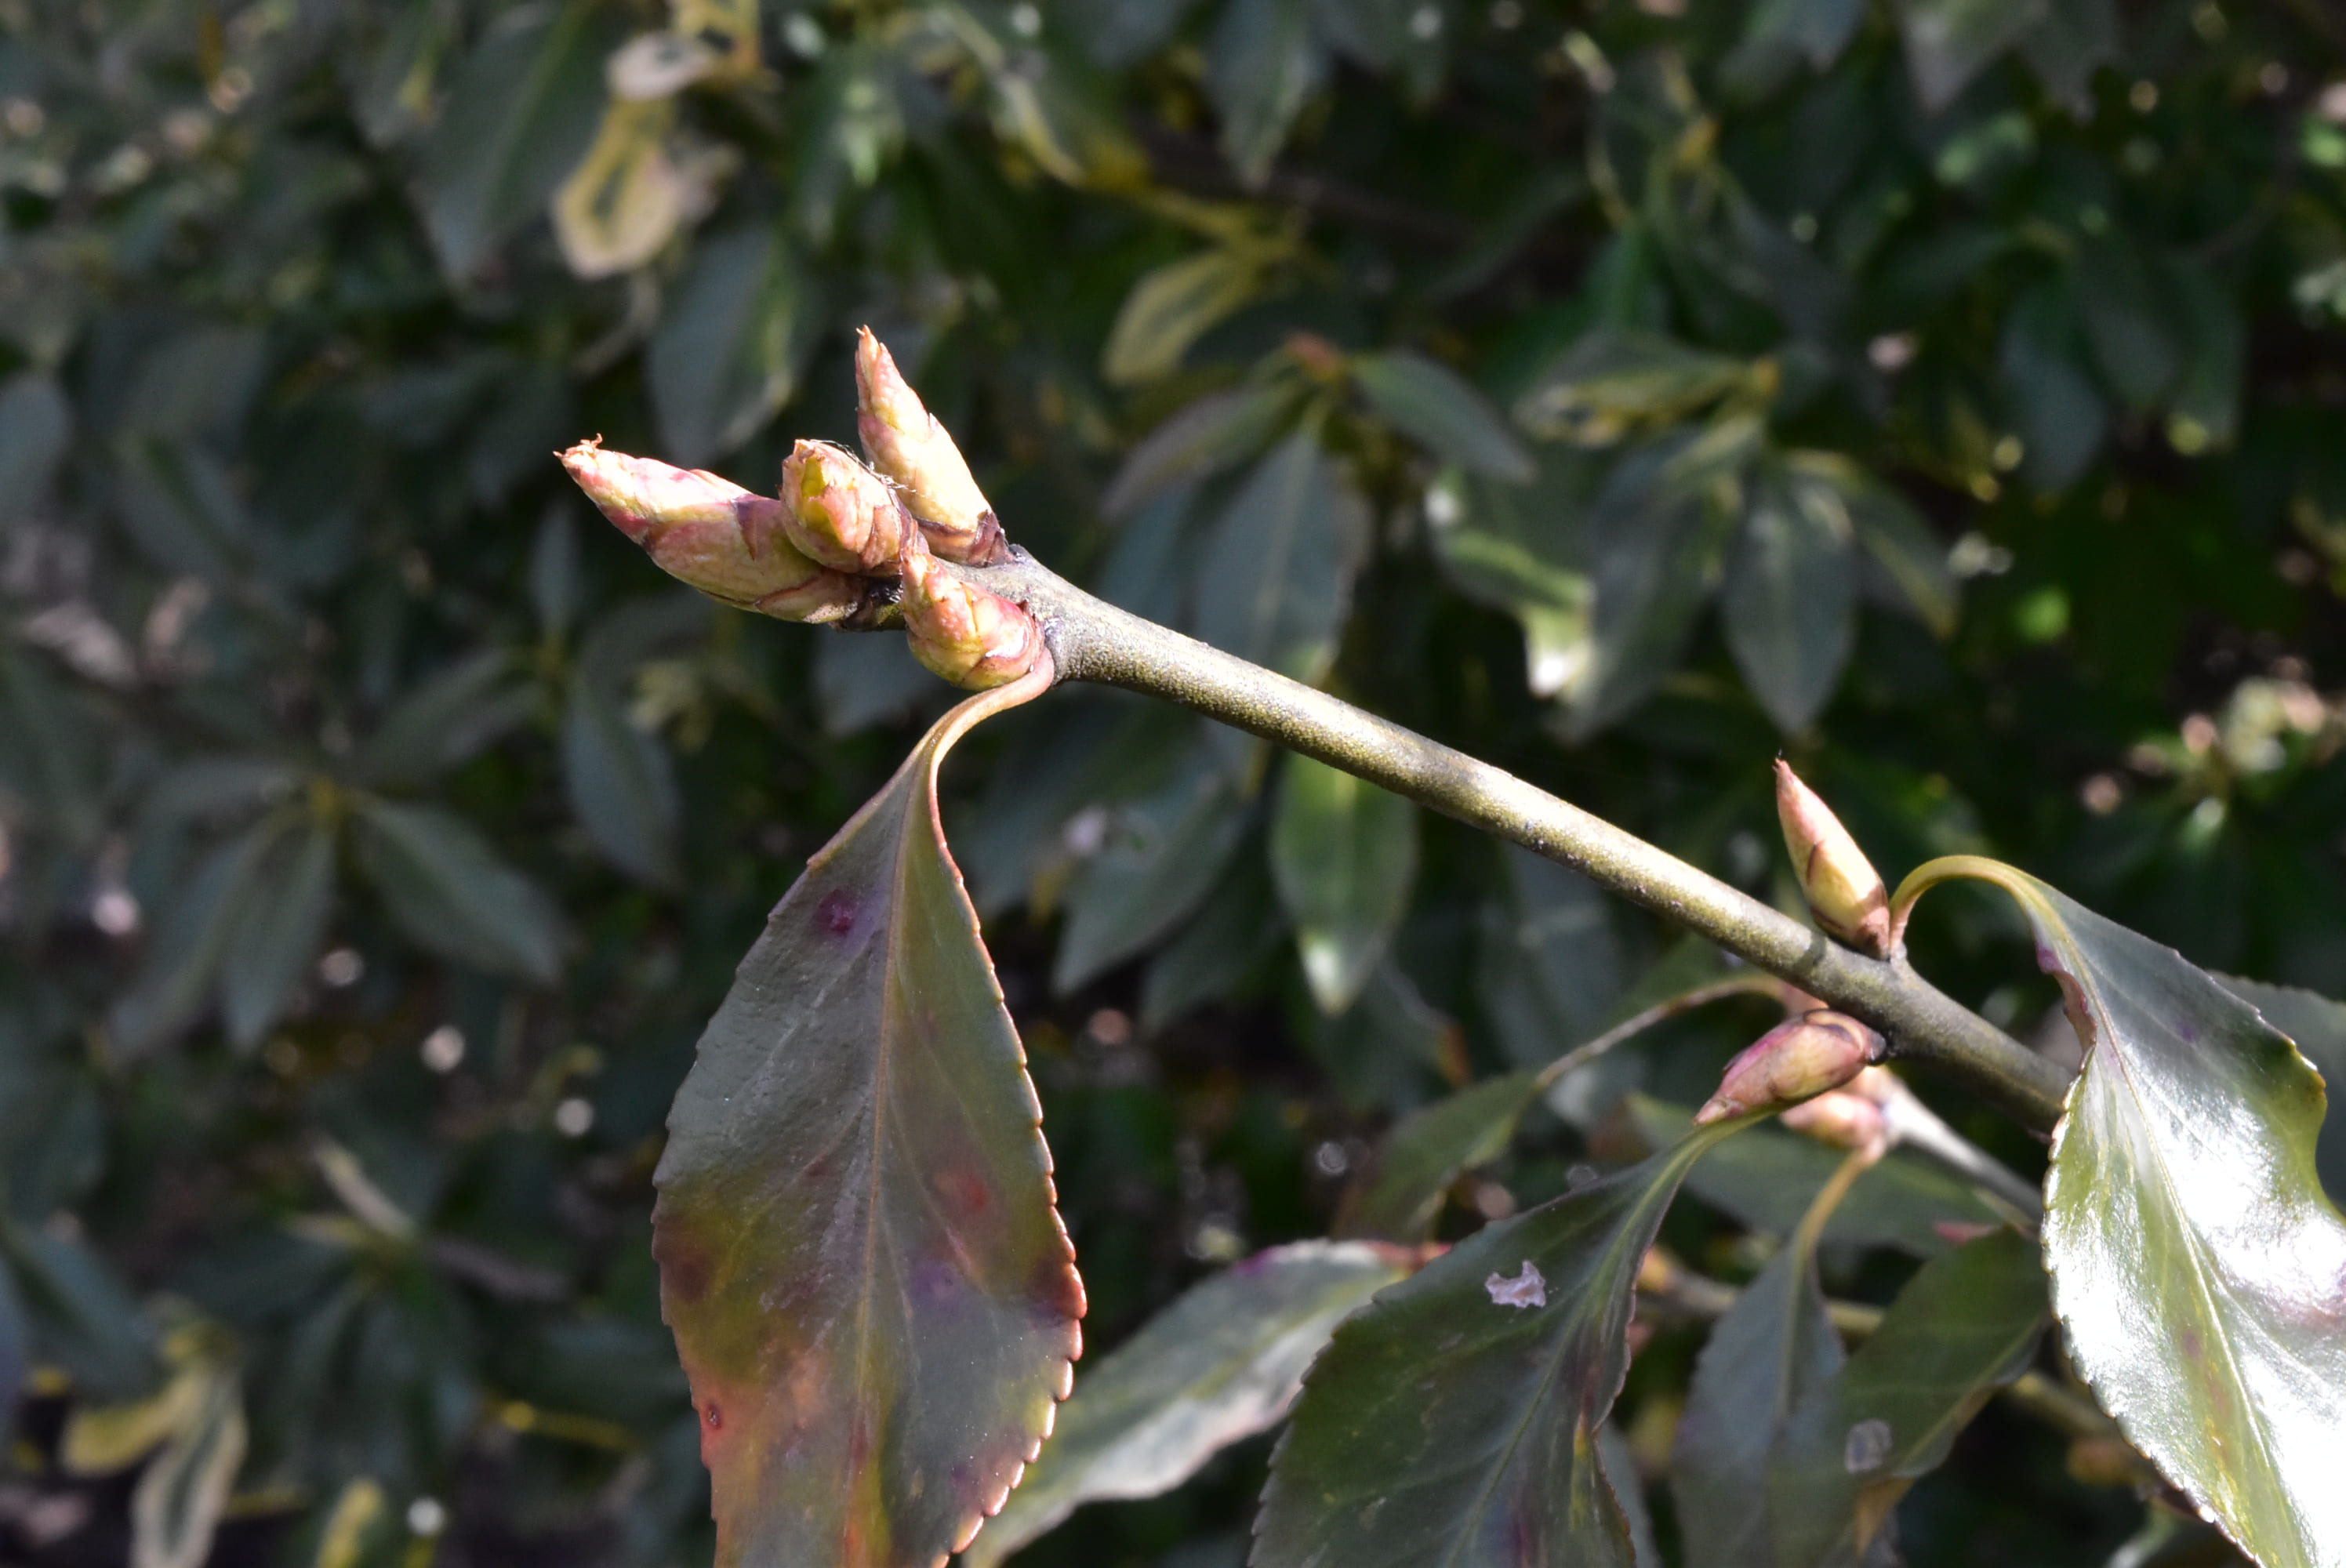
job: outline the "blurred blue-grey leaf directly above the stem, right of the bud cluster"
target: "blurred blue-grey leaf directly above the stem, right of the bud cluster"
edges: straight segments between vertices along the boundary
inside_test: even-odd
[[[1196,575],[1196,634],[1297,681],[1318,681],[1351,601],[1368,535],[1361,495],[1337,479],[1311,430],[1255,465],[1229,500]]]

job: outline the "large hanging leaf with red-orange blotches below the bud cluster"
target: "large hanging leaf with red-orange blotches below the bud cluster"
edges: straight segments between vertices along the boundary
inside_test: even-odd
[[[976,911],[936,819],[971,697],[774,906],[655,1183],[718,1563],[929,1568],[1051,1430],[1084,1286]]]

